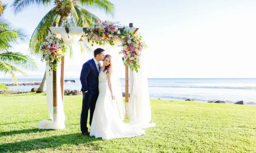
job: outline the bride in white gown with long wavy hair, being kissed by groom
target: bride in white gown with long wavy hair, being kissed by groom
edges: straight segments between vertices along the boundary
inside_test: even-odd
[[[111,70],[111,59],[110,55],[105,55],[103,66],[100,67],[99,96],[93,113],[90,136],[110,140],[145,134],[145,130],[122,122],[124,119],[123,98],[121,89],[115,85],[117,80],[114,80]]]

